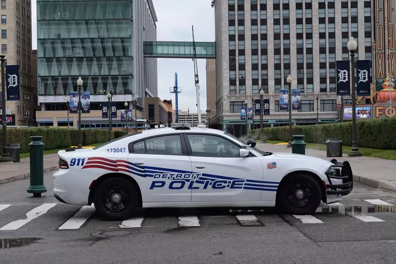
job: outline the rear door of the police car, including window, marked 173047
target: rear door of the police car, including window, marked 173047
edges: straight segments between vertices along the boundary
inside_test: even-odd
[[[131,142],[129,150],[128,161],[143,203],[191,201],[191,160],[180,133]]]

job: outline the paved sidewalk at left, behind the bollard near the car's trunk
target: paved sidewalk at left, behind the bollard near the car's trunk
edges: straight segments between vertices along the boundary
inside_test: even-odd
[[[44,172],[58,170],[58,154],[44,155]],[[30,177],[30,158],[20,162],[0,163],[0,184]]]

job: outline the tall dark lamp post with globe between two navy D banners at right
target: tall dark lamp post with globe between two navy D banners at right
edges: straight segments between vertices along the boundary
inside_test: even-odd
[[[357,43],[350,37],[348,44],[348,50],[350,52],[350,63],[351,63],[351,85],[352,85],[352,147],[348,153],[349,157],[359,157],[362,154],[359,152],[357,147],[357,133],[356,133],[356,91],[355,91],[355,50],[357,48]]]

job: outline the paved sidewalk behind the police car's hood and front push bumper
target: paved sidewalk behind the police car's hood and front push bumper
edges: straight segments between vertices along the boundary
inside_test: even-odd
[[[286,145],[273,145],[257,143],[258,149],[269,152],[286,152],[292,153],[292,149]],[[396,161],[385,160],[380,158],[369,157],[343,157],[330,158],[326,157],[326,151],[316,149],[305,149],[305,155],[322,158],[330,161],[348,161],[352,168],[353,180],[374,186],[376,188],[384,188],[396,191]]]

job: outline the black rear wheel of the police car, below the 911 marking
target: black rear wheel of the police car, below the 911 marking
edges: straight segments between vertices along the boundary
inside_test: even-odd
[[[129,180],[109,178],[96,189],[94,205],[99,217],[105,220],[125,220],[137,208],[138,193]]]

